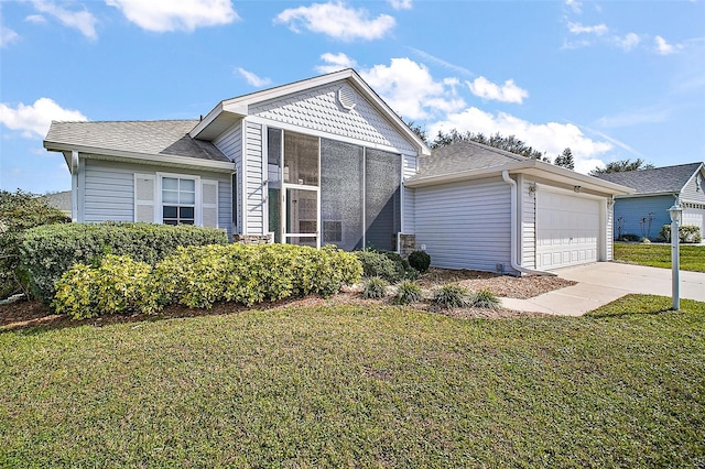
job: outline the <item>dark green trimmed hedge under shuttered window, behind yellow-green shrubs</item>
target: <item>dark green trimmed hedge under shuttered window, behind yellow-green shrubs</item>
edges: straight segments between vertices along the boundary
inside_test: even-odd
[[[28,230],[20,248],[34,294],[45,303],[72,265],[99,263],[106,254],[129,255],[155,265],[180,246],[225,244],[225,231],[152,223],[69,223]]]

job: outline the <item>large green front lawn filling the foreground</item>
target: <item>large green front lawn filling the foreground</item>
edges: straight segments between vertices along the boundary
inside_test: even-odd
[[[0,332],[0,467],[701,467],[705,303]]]

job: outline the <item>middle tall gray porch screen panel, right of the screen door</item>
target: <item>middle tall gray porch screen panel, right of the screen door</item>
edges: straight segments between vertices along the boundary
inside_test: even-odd
[[[362,248],[361,146],[321,140],[321,244],[352,251]]]

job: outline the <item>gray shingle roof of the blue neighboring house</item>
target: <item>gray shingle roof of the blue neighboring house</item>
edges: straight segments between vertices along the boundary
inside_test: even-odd
[[[633,187],[638,194],[677,193],[703,163],[600,174],[600,179]]]

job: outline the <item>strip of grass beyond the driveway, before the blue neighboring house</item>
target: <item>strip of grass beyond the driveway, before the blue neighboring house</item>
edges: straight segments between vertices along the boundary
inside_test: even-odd
[[[705,272],[705,246],[681,244],[681,270]],[[615,242],[615,260],[671,269],[671,244]]]

